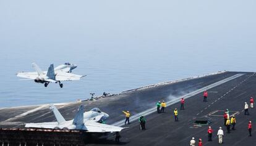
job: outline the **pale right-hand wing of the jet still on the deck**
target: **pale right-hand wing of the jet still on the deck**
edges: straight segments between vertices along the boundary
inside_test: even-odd
[[[85,127],[87,128],[87,132],[120,132],[122,129],[117,126],[112,126],[109,124],[101,124],[93,121],[85,121]]]

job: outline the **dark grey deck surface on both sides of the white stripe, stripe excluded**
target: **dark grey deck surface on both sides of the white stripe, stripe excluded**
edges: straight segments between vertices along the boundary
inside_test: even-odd
[[[237,72],[226,72],[219,75],[206,76],[203,78],[190,79],[174,84],[151,87],[139,91],[127,92],[124,94],[115,95],[105,99],[99,99],[93,102],[82,102],[87,110],[93,107],[99,107],[106,113],[109,113],[108,124],[115,123],[124,119],[122,110],[129,110],[133,115],[143,112],[148,108],[155,107],[158,100],[168,101],[170,97],[180,97],[181,95],[195,91],[209,84],[216,83],[229,76],[236,75]],[[237,79],[233,79],[228,83],[221,84],[209,90],[208,102],[203,103],[202,93],[194,95],[186,100],[186,110],[179,110],[179,122],[175,123],[173,119],[174,108],[179,107],[179,103],[169,106],[166,113],[153,113],[148,115],[147,130],[140,131],[137,121],[129,125],[129,129],[121,132],[122,143],[124,145],[189,145],[191,137],[203,139],[203,145],[218,145],[216,132],[218,127],[223,126],[222,117],[207,116],[208,113],[215,110],[234,110],[240,112],[237,115],[237,130],[231,131],[231,134],[224,136],[223,145],[241,145],[255,144],[253,139],[255,131],[253,129],[253,137],[248,137],[247,123],[255,121],[255,109],[250,109],[250,116],[241,114],[244,108],[244,102],[249,103],[249,97],[255,95],[256,76],[253,73],[245,73]],[[236,87],[236,88],[234,88]],[[231,91],[232,89],[232,91]],[[220,98],[221,97],[221,98]],[[219,99],[220,98],[220,99]],[[61,100],[61,99],[60,99]],[[216,102],[215,102],[216,100]],[[80,103],[69,103],[67,105],[58,106],[60,112],[70,120],[74,118],[75,110]],[[210,107],[208,107],[210,105]],[[36,112],[29,113],[25,116],[20,116],[21,113],[32,110],[36,107],[23,108],[4,108],[0,109],[0,127],[1,128],[22,128],[22,123],[29,122],[45,122],[54,121],[53,113],[43,107]],[[202,112],[201,112],[202,111]],[[18,113],[19,112],[19,113]],[[221,113],[222,115],[223,113]],[[14,116],[17,116],[14,118]],[[207,126],[194,128],[193,123],[195,118],[207,116],[211,118],[213,123],[211,127],[214,130],[213,142],[207,142]],[[226,129],[224,129],[226,131]],[[96,145],[114,144],[113,137],[107,140],[97,140]],[[90,145],[95,145],[90,144]]]

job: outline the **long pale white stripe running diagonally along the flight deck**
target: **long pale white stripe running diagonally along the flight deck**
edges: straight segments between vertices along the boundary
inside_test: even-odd
[[[228,81],[239,78],[240,76],[243,76],[243,75],[244,74],[242,74],[242,73],[238,73],[236,75],[230,76],[229,78],[223,79],[223,80],[218,81],[216,83],[210,84],[210,85],[202,87],[200,89],[197,89],[196,91],[190,92],[189,94],[182,95],[181,97],[183,97],[184,99],[188,99],[189,97],[197,95],[200,92],[203,92],[205,90],[208,90],[208,89],[211,89],[213,87],[219,86],[221,84],[227,83]],[[177,97],[177,99],[173,99],[173,100],[170,100],[170,101],[166,102],[166,106],[173,105],[174,103],[179,102],[181,97]],[[148,110],[145,110],[144,112],[140,112],[140,113],[135,114],[134,116],[131,116],[130,121],[132,122],[132,121],[138,120],[141,115],[147,116],[147,115],[150,115],[151,113],[154,113],[154,112],[156,112],[156,108],[155,107],[150,108]],[[123,126],[124,125],[124,120],[117,121],[116,123],[114,123],[112,125],[114,125],[114,126]]]

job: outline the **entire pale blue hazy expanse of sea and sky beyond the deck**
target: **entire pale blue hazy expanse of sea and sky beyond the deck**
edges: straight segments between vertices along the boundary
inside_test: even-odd
[[[50,3],[50,4],[49,4]],[[136,4],[135,4],[136,3]],[[216,71],[255,71],[254,1],[1,1],[0,108],[88,99]],[[80,81],[15,73],[78,65]]]

